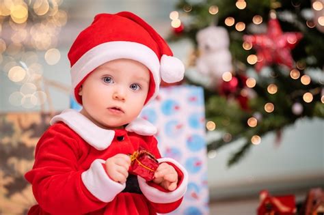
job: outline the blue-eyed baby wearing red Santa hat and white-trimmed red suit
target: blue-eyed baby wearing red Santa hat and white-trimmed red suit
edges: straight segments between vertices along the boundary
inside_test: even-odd
[[[98,14],[70,48],[72,95],[81,111],[51,119],[25,177],[38,201],[28,214],[157,214],[175,210],[188,175],[161,158],[157,129],[137,118],[167,83],[183,78],[183,63],[161,36],[131,12]],[[129,172],[129,155],[157,158],[146,181]]]

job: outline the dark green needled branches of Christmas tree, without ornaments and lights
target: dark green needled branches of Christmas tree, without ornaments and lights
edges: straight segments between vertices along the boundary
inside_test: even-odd
[[[323,70],[323,33],[316,29],[316,27],[307,27],[306,19],[301,14],[304,9],[310,9],[310,1],[251,0],[247,1],[247,7],[244,10],[239,10],[235,6],[236,1],[178,1],[176,6],[178,11],[183,12],[185,5],[190,5],[191,11],[183,12],[185,14],[184,17],[187,18],[183,33],[170,35],[169,39],[176,41],[189,38],[194,46],[197,47],[195,35],[198,31],[209,25],[225,27],[230,35],[230,53],[232,54],[233,65],[243,64],[243,68],[252,68],[253,66],[249,65],[246,59],[248,55],[255,54],[256,51],[253,48],[249,51],[243,49],[243,35],[253,34],[253,32],[249,31],[249,26],[254,25],[252,17],[256,14],[262,16],[262,25],[267,25],[269,12],[273,9],[273,3],[275,3],[278,6],[278,8],[275,8],[278,14],[284,12],[292,14],[294,17],[293,20],[278,18],[282,31],[299,31],[303,33],[303,38],[291,52],[294,61],[303,64],[303,68],[299,68],[300,76],[307,74],[308,70],[313,68]],[[211,5],[217,5],[219,8],[217,14],[209,14],[208,8]],[[244,22],[246,25],[245,30],[239,32],[234,26],[226,26],[224,20],[228,16],[232,16],[235,19],[235,23],[238,21]],[[254,27],[256,26],[254,25]],[[208,151],[220,149],[237,140],[244,141],[243,145],[229,158],[229,166],[239,162],[248,154],[252,146],[251,138],[254,135],[262,137],[269,132],[279,132],[286,126],[294,124],[301,117],[320,117],[324,119],[324,105],[321,102],[323,85],[321,83],[317,80],[312,80],[309,85],[303,85],[300,78],[297,80],[291,78],[289,75],[290,70],[284,66],[272,65],[269,70],[271,70],[271,75],[269,76],[264,74],[257,75],[256,86],[253,87],[256,97],[249,99],[249,109],[247,110],[243,110],[237,100],[235,100],[235,96],[239,92],[230,95],[232,99],[229,99],[219,94],[218,91],[202,86],[204,87],[204,98],[206,101],[206,120],[214,121],[217,125],[217,130],[223,134],[230,134],[231,137],[231,139],[225,139],[225,141],[222,138],[211,141],[207,145]],[[198,83],[195,83],[195,80],[190,80],[189,78],[187,78],[187,83],[198,85]],[[267,91],[267,87],[271,83],[278,87],[278,92],[275,94],[269,94]],[[306,92],[312,93],[312,102],[304,102],[303,94]],[[271,113],[265,111],[265,104],[267,102],[271,102],[275,106],[274,111]],[[292,110],[293,105],[297,103],[301,104],[303,109],[300,114],[293,113]],[[247,126],[247,119],[253,117],[256,113],[261,118],[258,119],[256,127],[250,128]]]

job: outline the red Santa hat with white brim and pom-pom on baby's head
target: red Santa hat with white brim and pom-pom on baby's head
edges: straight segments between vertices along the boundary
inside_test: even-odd
[[[146,103],[157,96],[161,78],[175,83],[183,79],[185,72],[185,66],[173,57],[165,40],[141,18],[131,12],[98,14],[79,33],[68,53],[75,100],[82,104],[79,88],[94,69],[122,58],[139,61],[150,70]]]

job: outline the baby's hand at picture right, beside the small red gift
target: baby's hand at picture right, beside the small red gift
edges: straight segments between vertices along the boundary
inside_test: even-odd
[[[163,162],[155,171],[153,182],[166,190],[175,190],[178,184],[178,173],[170,164]]]

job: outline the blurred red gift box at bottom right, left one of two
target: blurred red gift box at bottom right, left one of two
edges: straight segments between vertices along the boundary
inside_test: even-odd
[[[258,215],[293,215],[296,214],[295,196],[273,197],[267,190],[260,192]]]

